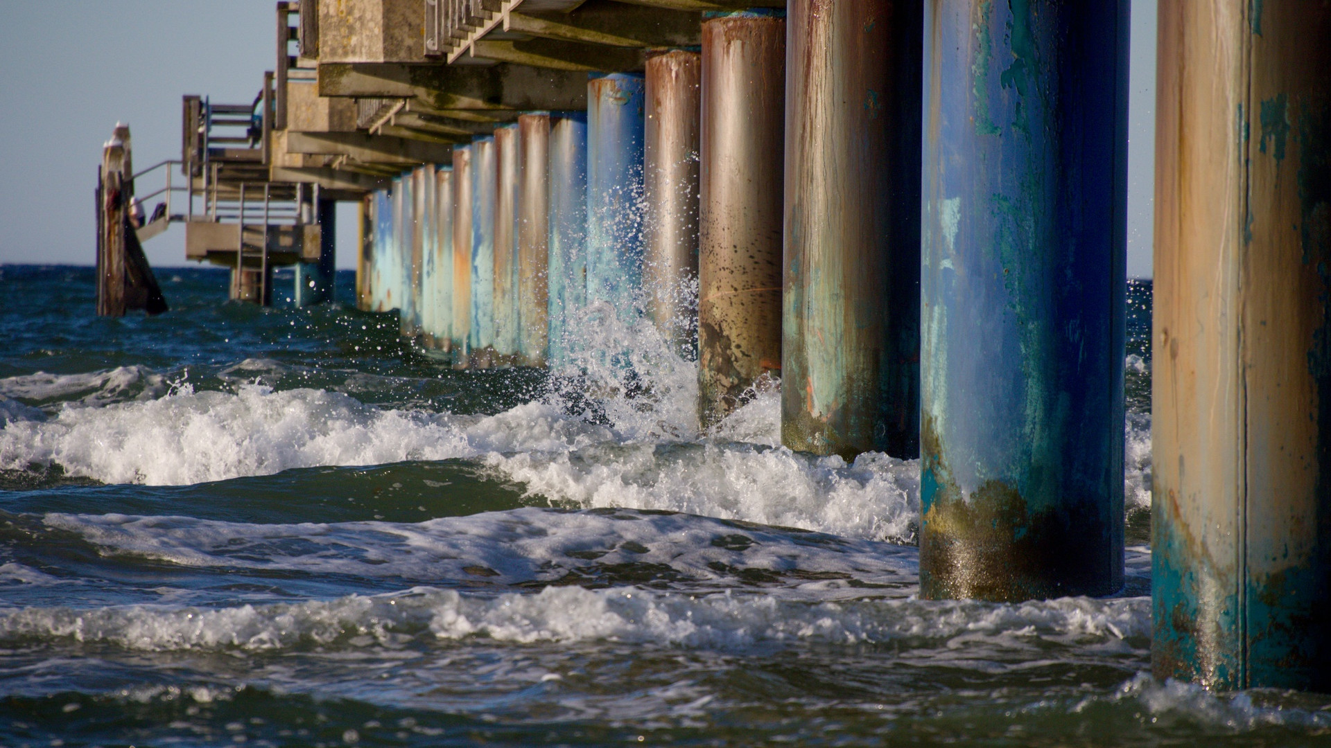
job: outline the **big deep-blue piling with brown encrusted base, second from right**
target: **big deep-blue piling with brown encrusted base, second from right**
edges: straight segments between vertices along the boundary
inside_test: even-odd
[[[926,4],[922,598],[1123,584],[1127,9]]]

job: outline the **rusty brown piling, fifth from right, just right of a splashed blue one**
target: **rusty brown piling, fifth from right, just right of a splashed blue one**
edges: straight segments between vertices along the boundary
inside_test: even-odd
[[[683,49],[648,57],[644,88],[643,286],[647,313],[676,353],[687,357],[693,354],[697,319],[701,57]]]

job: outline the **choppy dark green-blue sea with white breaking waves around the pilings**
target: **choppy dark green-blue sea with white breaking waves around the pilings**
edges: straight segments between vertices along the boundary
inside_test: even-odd
[[[1149,282],[1127,587],[990,604],[917,599],[916,462],[791,453],[771,390],[700,434],[612,310],[576,371],[451,371],[158,277],[98,319],[0,268],[0,745],[1331,744],[1328,696],[1146,675]]]

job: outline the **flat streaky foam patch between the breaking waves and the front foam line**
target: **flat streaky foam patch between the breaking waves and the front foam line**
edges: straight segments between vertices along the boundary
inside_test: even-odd
[[[101,552],[189,567],[295,571],[484,584],[552,583],[614,568],[669,568],[659,583],[740,584],[760,572],[772,594],[904,595],[914,548],[691,515],[520,508],[417,524],[244,524],[188,516],[48,514]],[[855,582],[855,583],[852,583]]]

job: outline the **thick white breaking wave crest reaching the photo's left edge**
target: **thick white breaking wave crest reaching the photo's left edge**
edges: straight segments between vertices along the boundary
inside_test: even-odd
[[[603,427],[527,403],[494,417],[379,410],[325,390],[188,389],[148,402],[65,407],[0,430],[0,468],[59,463],[106,483],[188,484],[293,467],[471,458],[503,450],[570,450]]]

